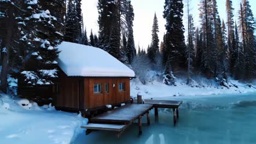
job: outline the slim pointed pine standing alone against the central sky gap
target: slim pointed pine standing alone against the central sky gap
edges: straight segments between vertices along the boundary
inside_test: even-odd
[[[152,44],[150,46],[150,49],[148,50],[148,57],[150,61],[154,64],[156,62],[156,55],[159,52],[159,38],[158,38],[158,18],[156,17],[156,14],[154,15],[154,22],[152,27]]]

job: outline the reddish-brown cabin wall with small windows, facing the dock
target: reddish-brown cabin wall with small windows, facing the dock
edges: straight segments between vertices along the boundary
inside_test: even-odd
[[[101,84],[102,93],[94,93],[94,84]],[[105,83],[109,83],[109,93],[105,92]],[[119,83],[125,83],[125,91],[119,91]],[[113,84],[115,87],[113,87]],[[130,100],[130,79],[122,77],[85,78],[84,109],[93,109],[105,105],[125,103]]]

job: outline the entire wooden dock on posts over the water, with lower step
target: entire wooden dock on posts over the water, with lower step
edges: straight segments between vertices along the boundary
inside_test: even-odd
[[[178,108],[182,101],[173,100],[144,100],[144,104],[126,104],[117,109],[107,111],[89,119],[89,124],[82,126],[86,129],[86,135],[95,130],[117,131],[119,137],[132,122],[138,119],[138,132],[142,134],[142,116],[147,114],[147,124],[150,124],[149,111],[155,109],[155,116],[158,116],[158,108],[173,109],[173,122],[176,125]]]

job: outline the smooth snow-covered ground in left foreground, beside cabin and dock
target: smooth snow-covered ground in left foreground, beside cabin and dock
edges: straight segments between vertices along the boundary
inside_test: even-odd
[[[0,143],[70,143],[87,119],[0,93]]]

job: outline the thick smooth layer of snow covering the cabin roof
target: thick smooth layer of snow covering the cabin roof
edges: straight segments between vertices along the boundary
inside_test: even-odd
[[[133,70],[102,49],[63,41],[57,62],[67,76],[134,77]]]

